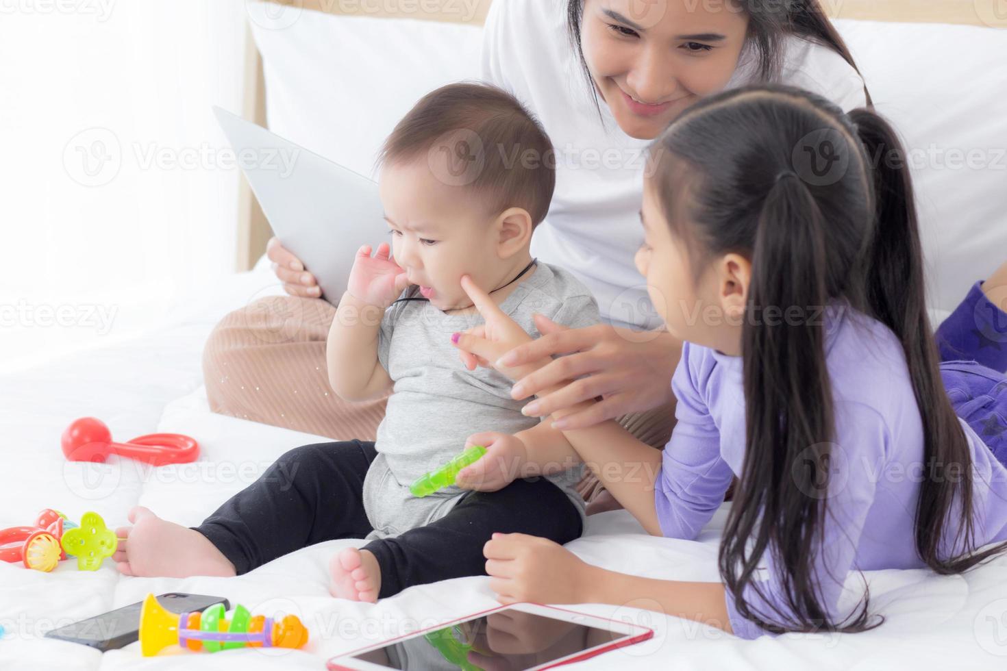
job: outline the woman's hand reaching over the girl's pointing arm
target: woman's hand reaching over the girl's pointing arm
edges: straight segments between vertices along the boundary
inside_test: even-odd
[[[542,337],[508,352],[497,364],[521,367],[554,354],[572,354],[550,360],[514,385],[511,395],[516,400],[562,385],[529,403],[526,414],[546,416],[601,397],[563,417],[564,430],[574,430],[672,401],[672,374],[682,343],[671,334],[607,324],[568,329],[543,315],[535,316],[535,325]]]

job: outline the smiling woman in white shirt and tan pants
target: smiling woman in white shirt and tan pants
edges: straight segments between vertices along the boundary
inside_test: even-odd
[[[643,150],[695,102],[753,81],[810,90],[844,111],[864,106],[853,59],[817,0],[495,0],[482,69],[539,117],[558,153],[555,196],[533,253],[584,282],[611,324],[561,331],[541,320],[545,337],[513,356],[574,354],[526,378],[515,395],[581,378],[539,399],[541,411],[600,396],[569,417],[572,428],[620,418],[639,440],[664,446],[681,343],[649,330],[660,327],[659,312],[633,267]],[[318,300],[314,277],[275,238],[268,256],[291,297],[232,313],[210,336],[203,360],[210,406],[373,440],[384,399],[349,404],[328,389],[334,308]],[[299,328],[278,338],[278,320]]]

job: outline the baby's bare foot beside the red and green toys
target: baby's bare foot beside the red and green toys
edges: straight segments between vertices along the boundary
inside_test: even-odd
[[[195,529],[161,519],[143,506],[129,511],[129,521],[133,526],[116,529],[119,547],[112,558],[120,572],[147,577],[235,574],[235,565]]]

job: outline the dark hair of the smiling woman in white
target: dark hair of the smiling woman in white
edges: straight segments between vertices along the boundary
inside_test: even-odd
[[[588,85],[594,96],[595,106],[598,105],[597,89],[584,58],[584,46],[581,41],[581,23],[584,17],[585,0],[567,0],[567,32],[570,43],[577,51],[581,68],[587,76]],[[736,0],[748,14],[748,35],[745,44],[757,59],[759,81],[775,82],[779,78],[782,66],[782,43],[788,35],[798,35],[809,41],[828,46],[843,59],[850,63],[853,69],[860,72],[853,60],[849,47],[843,41],[836,26],[822,10],[819,0]],[[726,11],[726,10],[725,10]],[[864,87],[867,105],[871,105],[871,95]]]

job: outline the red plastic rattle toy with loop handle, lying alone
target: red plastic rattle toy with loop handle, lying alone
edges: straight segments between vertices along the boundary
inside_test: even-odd
[[[150,434],[129,443],[113,443],[105,423],[81,417],[66,428],[60,439],[66,459],[75,462],[104,462],[109,455],[129,457],[152,466],[194,462],[199,444],[180,434]]]

